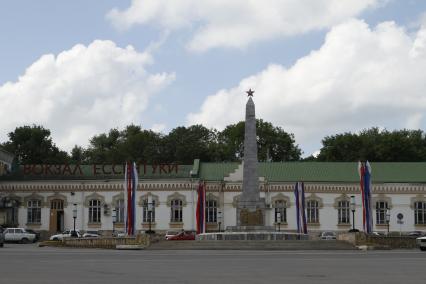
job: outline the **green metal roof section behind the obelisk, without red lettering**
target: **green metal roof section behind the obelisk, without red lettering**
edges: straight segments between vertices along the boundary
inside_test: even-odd
[[[370,163],[373,183],[426,183],[426,163]],[[200,178],[223,180],[238,163],[201,163]],[[359,182],[357,162],[259,163],[269,182]]]

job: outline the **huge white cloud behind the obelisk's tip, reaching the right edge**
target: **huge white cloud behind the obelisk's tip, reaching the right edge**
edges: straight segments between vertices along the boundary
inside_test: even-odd
[[[426,26],[410,36],[393,22],[371,29],[349,20],[332,28],[319,50],[217,92],[187,121],[221,129],[243,120],[244,91],[254,88],[257,117],[295,133],[307,155],[330,134],[424,127],[425,33]]]

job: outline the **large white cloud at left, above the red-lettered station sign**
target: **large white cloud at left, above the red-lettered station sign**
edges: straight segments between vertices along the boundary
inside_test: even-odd
[[[150,74],[149,52],[96,40],[43,55],[17,82],[0,86],[0,141],[16,126],[41,124],[70,150],[113,127],[140,124],[149,99],[174,80]]]

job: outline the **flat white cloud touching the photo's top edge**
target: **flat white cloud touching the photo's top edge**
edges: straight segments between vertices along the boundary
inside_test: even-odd
[[[164,30],[191,28],[188,47],[243,48],[253,42],[331,27],[389,0],[133,0],[107,18],[117,29],[136,24]]]

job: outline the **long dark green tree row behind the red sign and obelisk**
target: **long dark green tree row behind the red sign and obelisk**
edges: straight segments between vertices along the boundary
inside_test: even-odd
[[[6,150],[15,153],[21,163],[147,163],[192,164],[240,161],[244,156],[244,121],[227,126],[223,131],[202,125],[179,126],[167,135],[140,126],[93,136],[87,148],[75,145],[70,155],[52,142],[50,131],[42,126],[17,127],[9,133]],[[257,120],[258,155],[260,161],[293,161],[301,150],[293,134],[269,122]]]

